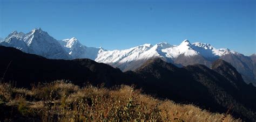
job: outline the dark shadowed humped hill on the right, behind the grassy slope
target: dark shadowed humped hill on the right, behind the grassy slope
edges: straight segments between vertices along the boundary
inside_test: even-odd
[[[218,61],[213,64],[217,66],[216,63]],[[234,69],[229,63],[227,64],[217,67]],[[240,83],[241,88],[237,89],[225,76],[204,65],[178,68],[161,59],[154,59],[137,69],[136,74],[144,78],[144,83],[139,84],[143,85],[146,92],[154,91],[157,96],[167,96],[176,102],[189,101],[211,108],[212,111],[225,112],[232,107],[236,116],[249,117],[250,120],[256,118],[255,87],[247,85],[244,81],[232,80],[237,84]]]

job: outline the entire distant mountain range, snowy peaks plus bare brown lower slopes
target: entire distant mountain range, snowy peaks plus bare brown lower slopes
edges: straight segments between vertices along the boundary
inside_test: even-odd
[[[239,70],[244,63],[234,56],[244,56],[238,52],[231,51],[228,48],[214,48],[210,44],[184,40],[180,45],[170,45],[166,42],[160,42],[156,45],[144,44],[137,47],[124,50],[107,51],[104,48],[86,47],[82,45],[78,39],[70,38],[56,40],[41,28],[35,28],[31,32],[24,34],[23,32],[14,31],[10,33],[2,42],[2,46],[15,47],[25,53],[37,54],[49,59],[82,59],[89,58],[97,62],[107,63],[113,67],[118,67],[123,71],[135,70],[149,59],[161,58],[166,62],[172,62],[177,66],[186,66],[188,64],[205,64],[211,67],[211,63],[216,59],[224,59],[230,62]],[[230,56],[231,55],[231,56]],[[246,58],[245,58],[246,59]],[[242,66],[240,66],[242,64]],[[248,68],[249,70],[250,68]],[[250,69],[250,80],[255,80],[255,69]],[[247,75],[246,75],[247,76]]]

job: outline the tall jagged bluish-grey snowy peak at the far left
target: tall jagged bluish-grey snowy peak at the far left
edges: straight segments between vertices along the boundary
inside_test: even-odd
[[[15,47],[26,53],[37,54],[49,59],[70,59],[59,42],[41,28],[29,33],[14,31],[0,45]]]

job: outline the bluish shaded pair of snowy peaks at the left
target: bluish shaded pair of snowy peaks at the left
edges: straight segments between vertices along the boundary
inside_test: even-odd
[[[95,59],[103,48],[86,47],[76,39],[56,40],[41,28],[35,28],[31,32],[14,31],[10,33],[0,45],[15,47],[25,53],[37,54],[49,59]]]

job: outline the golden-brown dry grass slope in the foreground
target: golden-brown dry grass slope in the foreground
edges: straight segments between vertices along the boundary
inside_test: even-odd
[[[0,121],[241,121],[122,85],[96,88],[56,81],[22,89],[0,84]]]

